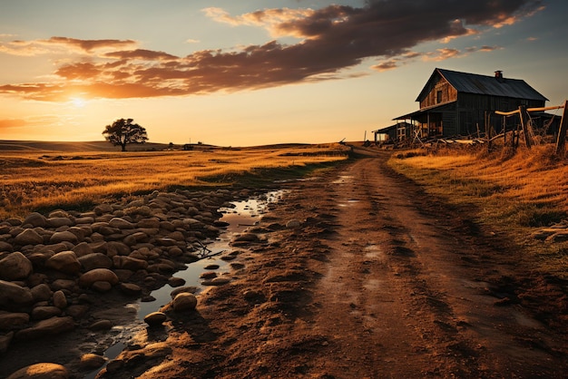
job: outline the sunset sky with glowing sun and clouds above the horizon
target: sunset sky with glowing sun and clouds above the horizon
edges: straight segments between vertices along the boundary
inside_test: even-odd
[[[436,67],[568,98],[565,0],[0,0],[0,140],[372,140]]]

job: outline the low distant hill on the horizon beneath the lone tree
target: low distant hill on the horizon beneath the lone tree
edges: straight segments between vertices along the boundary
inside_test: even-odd
[[[150,143],[128,145],[128,151],[162,151],[167,143]],[[54,142],[54,141],[3,141],[0,140],[0,151],[121,151],[120,146],[113,146],[107,141],[86,142]]]

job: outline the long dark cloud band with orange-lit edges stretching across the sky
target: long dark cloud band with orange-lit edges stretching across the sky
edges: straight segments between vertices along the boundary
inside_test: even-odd
[[[131,40],[53,37],[46,41],[73,45],[85,52],[103,47],[114,50],[93,58],[93,62],[59,67],[55,73],[66,80],[61,83],[10,84],[0,86],[0,92],[41,100],[64,99],[67,93],[76,91],[93,97],[151,97],[325,80],[341,77],[343,70],[371,57],[384,60],[372,68],[387,70],[405,60],[443,60],[495,50],[495,46],[482,46],[465,52],[451,47],[430,53],[411,52],[417,44],[447,42],[482,33],[486,28],[514,24],[540,7],[539,0],[380,0],[367,1],[361,8],[330,5],[318,10],[267,9],[238,16],[207,8],[206,14],[217,21],[261,26],[273,35],[300,41],[272,41],[238,51],[210,50],[176,57],[134,49],[136,43]]]

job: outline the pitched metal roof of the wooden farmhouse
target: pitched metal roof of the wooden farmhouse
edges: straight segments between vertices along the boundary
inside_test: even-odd
[[[496,76],[479,75],[477,73],[460,73],[436,68],[434,73],[430,75],[428,82],[426,82],[420,94],[418,94],[416,102],[420,102],[426,97],[430,88],[432,88],[431,85],[433,82],[436,82],[438,76],[445,78],[457,92],[512,97],[515,99],[548,100],[521,79],[509,79],[503,76],[497,78]]]

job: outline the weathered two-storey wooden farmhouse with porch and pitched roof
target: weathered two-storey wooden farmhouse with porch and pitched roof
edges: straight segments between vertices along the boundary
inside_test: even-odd
[[[396,141],[479,135],[485,122],[501,131],[507,126],[495,111],[544,107],[547,100],[524,80],[505,78],[501,71],[487,76],[436,68],[416,98],[420,109],[394,119],[401,124],[394,126]]]

